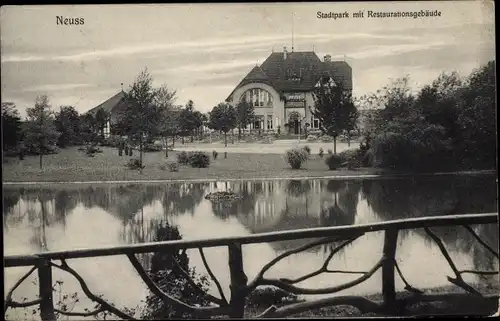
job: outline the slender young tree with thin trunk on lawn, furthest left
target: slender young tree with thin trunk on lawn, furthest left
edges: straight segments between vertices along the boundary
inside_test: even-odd
[[[50,110],[49,98],[46,95],[38,96],[35,107],[27,109],[28,117],[24,128],[27,147],[40,155],[40,169],[42,169],[43,155],[50,151],[57,142],[59,133],[54,124],[54,114]]]

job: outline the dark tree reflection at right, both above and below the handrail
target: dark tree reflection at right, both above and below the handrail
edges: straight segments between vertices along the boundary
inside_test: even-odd
[[[368,205],[384,220],[497,211],[496,183],[491,176],[367,180],[362,189]],[[493,266],[492,256],[463,227],[433,227],[431,230],[448,250],[470,253],[477,269]],[[497,248],[498,225],[480,226],[478,230],[488,244]],[[423,229],[412,231],[423,237],[429,246],[435,246]],[[400,231],[401,239],[407,239],[410,233],[409,230]]]

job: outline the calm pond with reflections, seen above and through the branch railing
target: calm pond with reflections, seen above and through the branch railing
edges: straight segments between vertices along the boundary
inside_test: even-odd
[[[204,197],[214,191],[238,193],[242,199],[221,206]],[[494,176],[442,176],[373,180],[280,180],[252,182],[77,185],[50,187],[4,186],[4,253],[32,254],[42,251],[94,248],[150,242],[163,222],[179,227],[184,239],[244,236],[254,233],[324,226],[356,225],[386,220],[434,215],[472,214],[497,211]],[[498,244],[496,224],[474,227],[492,247]],[[459,269],[498,269],[498,260],[461,227],[433,229],[444,242]],[[245,245],[245,272],[252,279],[264,264],[286,250],[311,240]],[[368,233],[342,251],[330,263],[335,270],[367,271],[381,257],[382,233]],[[319,268],[329,246],[292,255],[266,274],[297,278]],[[224,247],[205,250],[208,263],[228,296],[229,270]],[[188,252],[199,273],[206,274],[197,251]],[[397,262],[410,284],[417,288],[448,285],[453,274],[436,244],[423,230],[399,234]],[[139,255],[149,268],[150,255]],[[70,265],[117,306],[135,307],[147,289],[126,257],[70,260]],[[26,268],[5,270],[5,291]],[[36,275],[36,273],[34,273]],[[54,270],[54,281],[64,282],[64,292],[79,292],[72,276]],[[344,283],[356,275],[322,274],[298,285],[322,288]],[[35,299],[34,283],[16,290],[17,300]],[[466,275],[478,284],[487,279]],[[396,277],[396,286],[404,284]],[[381,273],[340,292],[370,294],[381,290]],[[216,294],[215,287],[211,289]],[[317,297],[317,296],[315,296]],[[81,300],[84,306],[88,304]],[[82,311],[83,308],[75,308]],[[10,310],[12,311],[15,310]],[[31,314],[31,313],[30,313]],[[11,316],[13,316],[11,314]],[[28,318],[31,316],[28,315]],[[36,316],[33,316],[36,317]],[[26,316],[22,316],[26,318]]]

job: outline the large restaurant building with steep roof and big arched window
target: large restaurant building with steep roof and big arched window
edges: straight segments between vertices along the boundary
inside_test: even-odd
[[[308,125],[319,129],[314,108],[313,90],[320,80],[341,83],[352,90],[352,69],[345,61],[323,61],[315,52],[273,52],[260,66],[255,66],[234,88],[226,101],[236,106],[246,100],[255,107],[255,120],[247,129],[300,134]]]

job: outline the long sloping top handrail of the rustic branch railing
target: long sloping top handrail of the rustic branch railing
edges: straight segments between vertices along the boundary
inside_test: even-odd
[[[298,229],[270,233],[259,233],[248,236],[222,237],[212,239],[198,240],[178,240],[149,242],[141,244],[130,244],[122,246],[112,246],[103,248],[83,248],[69,251],[42,252],[32,255],[9,255],[4,256],[4,267],[32,266],[40,259],[61,260],[77,259],[86,257],[101,257],[123,254],[150,253],[161,249],[192,249],[227,246],[231,244],[252,244],[266,243],[276,241],[286,241],[295,239],[332,237],[338,240],[345,240],[353,235],[360,235],[366,232],[376,232],[387,229],[415,229],[424,227],[439,227],[449,225],[468,225],[468,224],[491,224],[498,222],[498,213],[484,214],[460,214],[433,217],[418,217],[398,219],[378,223],[346,225],[334,227],[321,227],[313,229]]]

